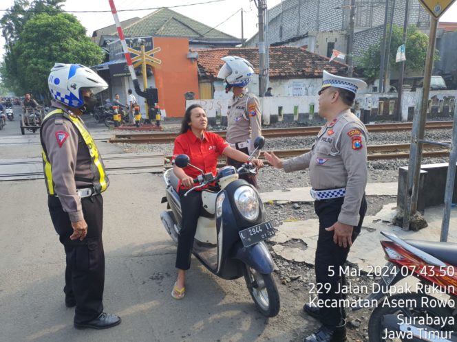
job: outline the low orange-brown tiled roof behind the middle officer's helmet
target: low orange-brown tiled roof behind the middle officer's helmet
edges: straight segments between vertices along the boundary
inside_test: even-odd
[[[198,52],[198,70],[201,77],[215,78],[224,65],[224,56],[240,56],[252,63],[255,73],[259,73],[259,50],[257,47],[234,47],[195,50]],[[322,78],[326,70],[339,76],[346,76],[348,66],[330,58],[313,54],[301,47],[270,47],[270,70],[273,78]]]

